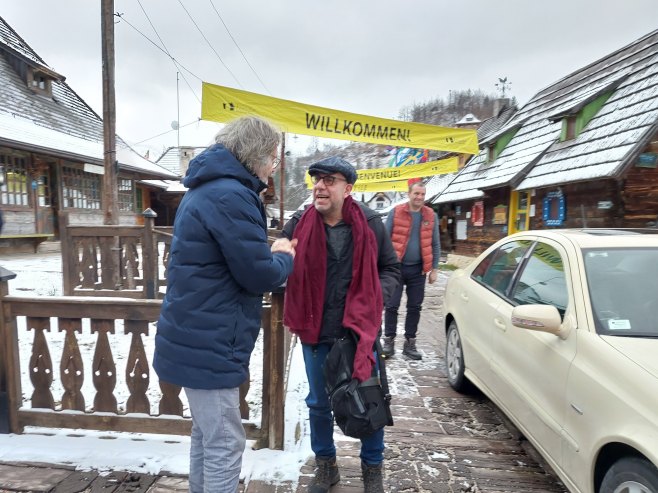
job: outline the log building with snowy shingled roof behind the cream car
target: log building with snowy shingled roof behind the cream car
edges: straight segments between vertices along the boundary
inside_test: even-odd
[[[539,91],[433,198],[473,256],[516,231],[658,223],[658,30]]]

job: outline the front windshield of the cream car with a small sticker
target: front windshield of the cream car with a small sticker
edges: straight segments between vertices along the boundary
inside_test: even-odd
[[[658,248],[583,251],[596,331],[658,337]]]

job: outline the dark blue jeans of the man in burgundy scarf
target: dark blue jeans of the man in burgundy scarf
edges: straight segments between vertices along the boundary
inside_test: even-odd
[[[335,457],[334,416],[324,386],[322,367],[331,346],[329,344],[302,344],[306,376],[308,377],[308,416],[311,424],[311,449],[319,457]],[[378,465],[384,460],[384,428],[361,439],[361,460]]]

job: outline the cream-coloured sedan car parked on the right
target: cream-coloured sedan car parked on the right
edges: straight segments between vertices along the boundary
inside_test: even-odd
[[[448,381],[476,385],[572,492],[658,492],[658,230],[508,236],[455,271]]]

